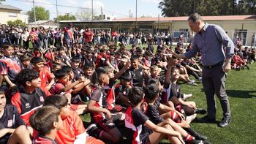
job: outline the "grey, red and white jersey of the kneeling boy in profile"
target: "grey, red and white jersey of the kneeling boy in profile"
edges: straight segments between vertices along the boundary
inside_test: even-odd
[[[93,88],[91,92],[91,98],[90,100],[96,101],[94,106],[99,108],[107,108],[108,102],[107,102],[107,93],[105,93],[104,88]],[[99,123],[103,121],[106,118],[105,113],[91,113],[91,118],[96,123]]]

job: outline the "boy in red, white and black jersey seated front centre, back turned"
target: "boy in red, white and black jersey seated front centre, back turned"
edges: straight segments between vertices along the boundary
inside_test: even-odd
[[[165,137],[170,140],[170,143],[184,143],[181,134],[174,131],[170,125],[157,126],[140,110],[144,101],[143,88],[131,88],[128,97],[132,104],[125,115],[125,126],[129,131],[129,135],[127,135],[129,143],[154,144],[159,143]]]

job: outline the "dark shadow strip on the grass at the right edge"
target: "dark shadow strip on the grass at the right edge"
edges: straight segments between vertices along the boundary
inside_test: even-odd
[[[243,90],[226,90],[227,96],[238,98],[252,98],[256,96],[256,91],[243,91]],[[252,94],[255,93],[255,94]]]

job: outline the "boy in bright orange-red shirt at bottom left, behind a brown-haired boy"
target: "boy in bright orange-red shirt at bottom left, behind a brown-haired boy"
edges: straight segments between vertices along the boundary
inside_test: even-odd
[[[53,95],[45,99],[45,106],[54,106],[60,110],[63,129],[57,131],[56,141],[59,144],[104,144],[101,140],[89,137],[83,127],[83,121],[78,113],[69,109],[65,96]]]

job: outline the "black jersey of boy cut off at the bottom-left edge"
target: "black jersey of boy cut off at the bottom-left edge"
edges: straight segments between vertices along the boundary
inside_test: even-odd
[[[25,125],[24,121],[20,118],[20,113],[13,105],[6,105],[4,107],[4,114],[0,118],[0,130],[1,129],[16,129],[18,126]],[[10,137],[10,133],[0,137],[0,143],[7,143]]]

